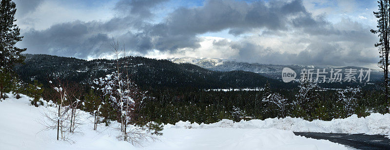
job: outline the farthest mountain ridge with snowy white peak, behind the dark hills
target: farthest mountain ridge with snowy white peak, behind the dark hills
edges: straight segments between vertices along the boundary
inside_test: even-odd
[[[317,69],[323,69],[324,67],[315,67],[313,65],[302,66],[302,65],[265,65],[257,63],[244,63],[237,62],[234,59],[219,59],[219,58],[196,58],[196,57],[181,57],[181,58],[171,58],[168,59],[171,62],[181,64],[189,63],[199,67],[207,68],[214,71],[233,71],[233,70],[242,70],[258,73],[265,77],[269,77],[276,80],[281,80],[281,74],[284,67],[289,67],[294,70],[297,75],[301,73],[302,69],[314,69],[316,72]],[[332,67],[326,67],[329,72]],[[368,70],[366,67],[334,67],[334,69],[357,69]],[[379,69],[370,68],[370,81],[377,82],[382,79],[383,73]],[[345,71],[343,71],[345,73]],[[357,72],[359,73],[359,72]],[[330,76],[330,75],[329,75]]]

